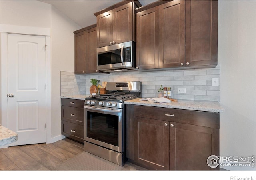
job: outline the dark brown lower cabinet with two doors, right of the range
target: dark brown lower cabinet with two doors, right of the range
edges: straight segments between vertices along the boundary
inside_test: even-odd
[[[207,165],[210,155],[219,155],[218,113],[126,104],[128,161],[150,170],[219,170]]]

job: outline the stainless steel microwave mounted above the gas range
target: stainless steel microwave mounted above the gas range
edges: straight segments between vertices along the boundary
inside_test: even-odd
[[[136,70],[135,66],[134,41],[97,48],[97,70],[105,72]]]

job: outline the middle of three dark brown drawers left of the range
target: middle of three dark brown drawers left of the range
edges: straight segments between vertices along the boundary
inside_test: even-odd
[[[61,109],[62,120],[84,125],[84,108],[61,106]]]

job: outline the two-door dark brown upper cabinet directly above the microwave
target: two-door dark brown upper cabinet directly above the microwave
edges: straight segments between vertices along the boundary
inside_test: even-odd
[[[94,13],[97,17],[97,47],[134,41],[134,11],[138,1],[122,1]]]

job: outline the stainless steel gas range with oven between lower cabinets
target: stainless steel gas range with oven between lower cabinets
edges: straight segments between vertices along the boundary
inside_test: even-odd
[[[107,82],[107,94],[85,98],[84,148],[114,162],[125,162],[124,101],[140,97],[141,82]]]

